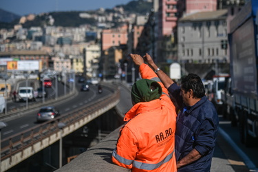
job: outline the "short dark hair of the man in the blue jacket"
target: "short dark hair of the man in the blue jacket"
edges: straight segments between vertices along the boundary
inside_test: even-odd
[[[197,74],[182,76],[180,83],[184,92],[188,92],[189,89],[193,90],[193,97],[202,98],[205,95],[204,84]]]

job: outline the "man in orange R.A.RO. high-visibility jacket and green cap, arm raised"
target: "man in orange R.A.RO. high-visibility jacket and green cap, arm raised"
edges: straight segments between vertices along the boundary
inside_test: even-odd
[[[175,162],[175,106],[167,89],[143,58],[131,54],[142,80],[131,89],[133,107],[112,153],[112,161],[132,171],[177,171]],[[157,82],[158,81],[158,82]]]

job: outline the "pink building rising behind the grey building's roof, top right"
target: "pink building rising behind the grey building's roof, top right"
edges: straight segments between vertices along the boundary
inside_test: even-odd
[[[217,10],[217,0],[186,0],[186,14]]]

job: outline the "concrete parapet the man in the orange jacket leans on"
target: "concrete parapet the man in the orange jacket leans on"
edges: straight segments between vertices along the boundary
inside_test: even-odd
[[[105,172],[123,172],[131,171],[125,169],[111,162],[111,154],[116,147],[116,141],[118,140],[119,130],[116,129],[110,133],[106,138],[101,140],[96,146],[91,147],[84,153],[78,155],[65,166],[55,172],[85,172],[85,171],[105,171]]]

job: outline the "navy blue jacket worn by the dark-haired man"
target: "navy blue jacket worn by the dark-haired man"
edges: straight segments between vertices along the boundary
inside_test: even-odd
[[[175,130],[176,160],[181,160],[193,149],[202,155],[202,158],[178,171],[210,171],[219,127],[219,117],[213,103],[204,96],[192,107],[185,107],[180,87],[173,84],[168,90],[180,109]]]

